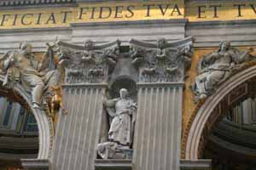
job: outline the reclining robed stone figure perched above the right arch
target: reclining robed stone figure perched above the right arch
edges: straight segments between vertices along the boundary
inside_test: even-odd
[[[242,63],[255,59],[250,54],[252,52],[252,48],[240,52],[231,48],[230,42],[220,42],[217,52],[203,56],[198,63],[198,76],[191,85],[195,101],[211,95],[220,82],[230,77],[232,71],[238,69]]]

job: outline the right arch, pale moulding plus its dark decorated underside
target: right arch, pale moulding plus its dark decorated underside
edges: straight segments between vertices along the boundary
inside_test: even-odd
[[[238,100],[246,99],[255,91],[256,65],[241,71],[221,84],[212,96],[208,97],[195,111],[194,119],[184,136],[186,160],[198,160],[201,137],[223,117],[223,113]],[[254,85],[253,85],[254,84]],[[226,108],[225,108],[226,107]]]

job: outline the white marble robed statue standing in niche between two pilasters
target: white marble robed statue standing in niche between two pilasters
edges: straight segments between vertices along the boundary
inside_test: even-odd
[[[119,98],[105,100],[104,106],[110,117],[108,141],[97,145],[102,159],[131,158],[131,143],[137,103],[127,98],[128,91],[121,88]]]

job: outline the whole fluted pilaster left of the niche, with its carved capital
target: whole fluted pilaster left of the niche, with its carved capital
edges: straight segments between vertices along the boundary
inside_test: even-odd
[[[93,170],[96,144],[101,132],[103,99],[108,87],[108,69],[116,63],[111,56],[119,41],[96,46],[57,42],[60,63],[66,68],[63,99],[67,115],[58,119],[52,168]]]

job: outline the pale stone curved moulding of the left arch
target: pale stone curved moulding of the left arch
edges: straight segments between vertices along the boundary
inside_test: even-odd
[[[0,76],[0,82],[3,82],[4,77]],[[53,122],[46,116],[45,112],[42,110],[32,109],[32,102],[29,94],[18,84],[15,86],[14,90],[20,94],[20,96],[26,100],[26,103],[31,108],[32,114],[35,116],[38,123],[38,139],[39,139],[39,150],[38,159],[49,159],[50,150],[52,150],[53,144]]]

